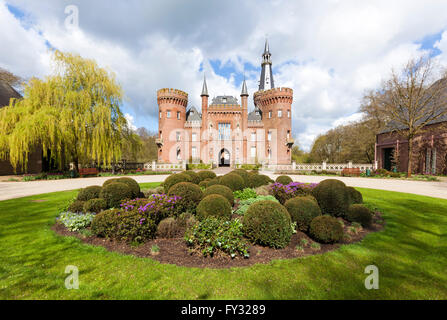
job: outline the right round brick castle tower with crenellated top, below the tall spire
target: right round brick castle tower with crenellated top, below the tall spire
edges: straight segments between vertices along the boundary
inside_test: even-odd
[[[293,90],[273,88],[254,94],[254,103],[262,111],[265,130],[266,158],[272,164],[292,161],[292,102]]]

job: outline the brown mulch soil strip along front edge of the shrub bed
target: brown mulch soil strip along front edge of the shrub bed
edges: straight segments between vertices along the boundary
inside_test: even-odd
[[[292,236],[290,244],[284,249],[272,249],[259,245],[250,245],[250,257],[236,257],[232,259],[229,256],[203,257],[197,252],[193,252],[187,245],[183,237],[175,239],[154,239],[139,246],[132,246],[128,243],[98,238],[96,236],[83,236],[77,232],[67,230],[62,224],[56,223],[52,230],[61,236],[73,236],[79,238],[82,242],[94,246],[102,246],[108,251],[119,252],[122,254],[134,255],[137,257],[151,258],[164,264],[174,264],[177,266],[197,267],[197,268],[232,268],[246,267],[254,264],[266,264],[272,260],[293,259],[305,257],[314,254],[322,254],[328,251],[336,250],[341,245],[352,244],[361,241],[367,234],[377,232],[383,229],[383,220],[381,213],[376,212],[373,219],[373,225],[368,229],[361,229],[357,233],[350,230],[349,222],[345,222],[345,234],[349,237],[341,243],[321,244],[319,250],[313,249],[311,243],[314,241],[302,232],[297,232]],[[382,223],[379,223],[382,222]],[[303,246],[302,239],[307,239],[308,244]],[[160,248],[157,254],[152,253],[152,246]],[[297,246],[302,246],[304,250],[297,250]]]

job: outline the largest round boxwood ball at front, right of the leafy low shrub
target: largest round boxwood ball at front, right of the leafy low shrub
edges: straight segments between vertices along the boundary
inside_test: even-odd
[[[284,248],[290,243],[292,225],[287,209],[274,201],[253,203],[243,220],[245,236],[252,242],[272,248]]]

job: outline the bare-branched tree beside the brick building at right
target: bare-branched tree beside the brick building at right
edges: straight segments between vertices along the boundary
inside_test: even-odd
[[[412,172],[414,138],[447,115],[446,76],[430,57],[411,59],[402,70],[393,70],[380,90],[365,97],[370,115],[384,119],[391,131],[407,139],[407,176]]]

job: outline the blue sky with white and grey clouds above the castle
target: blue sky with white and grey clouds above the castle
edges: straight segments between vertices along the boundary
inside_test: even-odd
[[[69,5],[79,28],[67,28]],[[447,1],[440,0],[0,0],[0,67],[51,73],[50,48],[95,59],[117,74],[124,112],[157,128],[156,91],[170,87],[200,106],[239,98],[244,74],[257,90],[269,38],[276,86],[294,90],[293,132],[308,149],[319,133],[358,119],[365,90],[391,67],[431,51],[447,62]]]

